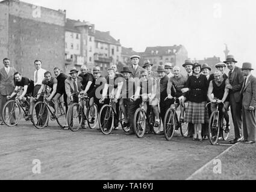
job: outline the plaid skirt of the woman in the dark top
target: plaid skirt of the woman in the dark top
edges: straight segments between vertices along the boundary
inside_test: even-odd
[[[193,103],[188,101],[185,121],[192,124],[205,124],[209,122],[208,110],[205,108],[207,102]]]

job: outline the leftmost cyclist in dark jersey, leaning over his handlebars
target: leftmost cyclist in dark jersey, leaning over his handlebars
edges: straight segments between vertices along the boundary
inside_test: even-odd
[[[14,73],[14,84],[15,89],[14,91],[18,91],[21,88],[23,88],[22,94],[19,96],[19,100],[21,101],[28,101],[30,103],[30,106],[27,106],[27,110],[29,110],[28,119],[31,119],[32,116],[32,110],[33,110],[33,92],[34,92],[34,81],[31,79],[28,79],[27,77],[22,77],[22,75],[19,72]],[[13,92],[10,96],[7,96],[7,100],[10,100],[16,95],[16,92]],[[26,98],[27,97],[27,98]]]

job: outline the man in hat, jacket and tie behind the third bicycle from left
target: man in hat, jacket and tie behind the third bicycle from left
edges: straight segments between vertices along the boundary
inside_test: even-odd
[[[78,103],[78,95],[73,95],[74,93],[82,93],[82,82],[83,78],[78,76],[78,70],[75,67],[70,69],[70,76],[65,80],[65,90],[67,94],[67,104],[70,106],[73,103]],[[70,119],[70,124],[72,124],[73,119],[71,117],[67,117]],[[83,124],[82,128],[86,128]],[[64,130],[68,130],[68,127],[65,127]]]

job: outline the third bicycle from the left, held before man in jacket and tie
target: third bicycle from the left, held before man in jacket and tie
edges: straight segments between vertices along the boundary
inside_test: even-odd
[[[67,110],[67,125],[69,125],[70,130],[78,131],[82,124],[86,124],[86,122],[90,129],[94,129],[99,118],[97,105],[95,103],[93,104],[95,114],[92,115],[92,109],[89,106],[90,98],[84,96],[84,94],[73,93],[70,95],[70,100],[73,95],[80,95],[80,97],[78,97],[78,103],[73,103]],[[94,121],[92,121],[92,118],[95,118]]]

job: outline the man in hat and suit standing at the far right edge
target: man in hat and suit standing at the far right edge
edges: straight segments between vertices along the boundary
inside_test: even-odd
[[[245,81],[241,89],[242,118],[243,118],[243,143],[255,143],[256,140],[256,77],[252,76],[252,64],[243,63],[242,74]]]

